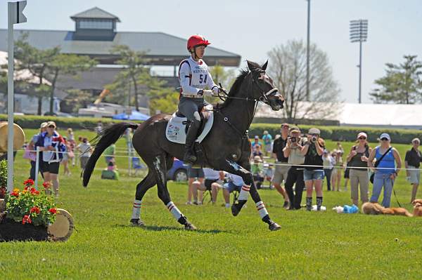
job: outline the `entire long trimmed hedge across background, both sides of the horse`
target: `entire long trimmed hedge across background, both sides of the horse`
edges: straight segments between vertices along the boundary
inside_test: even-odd
[[[39,128],[43,121],[55,121],[59,129],[73,128],[73,129],[88,129],[94,130],[98,121],[103,123],[103,126],[115,124],[120,121],[106,118],[90,118],[77,117],[65,118],[59,116],[14,116],[15,124],[22,128]],[[7,121],[5,114],[0,114],[0,121]],[[136,122],[136,121],[131,121]],[[309,125],[300,125],[302,133],[306,133]],[[415,137],[422,138],[422,131],[410,129],[397,128],[369,128],[369,127],[349,127],[349,126],[317,126],[321,131],[321,137],[324,139],[331,139],[334,141],[354,141],[357,133],[364,131],[368,134],[369,141],[376,142],[378,136],[383,133],[389,133],[392,142],[408,144]],[[249,136],[253,138],[254,135],[262,137],[264,131],[268,131],[271,135],[280,133],[280,124],[252,124],[249,129]]]

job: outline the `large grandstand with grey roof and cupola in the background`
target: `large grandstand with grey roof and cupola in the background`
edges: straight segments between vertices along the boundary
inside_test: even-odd
[[[58,88],[76,88],[98,95],[106,84],[111,84],[121,71],[117,65],[119,56],[110,53],[117,45],[129,46],[133,51],[145,52],[148,65],[153,73],[162,73],[168,86],[179,86],[177,71],[179,62],[188,56],[186,39],[163,32],[120,32],[117,23],[120,19],[101,8],[91,8],[70,17],[75,22],[75,30],[34,30],[16,29],[15,39],[27,34],[30,45],[39,49],[60,46],[61,53],[89,55],[98,61],[98,66],[91,71],[82,72],[79,79],[65,76],[57,84]],[[7,29],[0,29],[0,51],[7,51]],[[238,67],[241,56],[213,46],[207,47],[207,65]],[[168,69],[172,71],[168,71]],[[163,70],[161,70],[163,69]],[[166,71],[164,69],[167,69]],[[141,98],[141,106],[147,107],[148,100]],[[47,108],[43,108],[45,111]]]

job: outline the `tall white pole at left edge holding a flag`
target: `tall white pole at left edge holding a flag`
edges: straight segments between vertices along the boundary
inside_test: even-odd
[[[7,191],[13,191],[13,3],[8,3]]]

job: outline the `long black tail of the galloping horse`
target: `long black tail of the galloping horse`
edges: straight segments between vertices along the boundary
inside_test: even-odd
[[[92,155],[89,157],[87,165],[84,169],[82,182],[84,187],[87,187],[88,185],[89,178],[91,178],[92,171],[94,171],[94,167],[98,158],[101,156],[104,150],[107,149],[108,146],[114,144],[123,135],[127,128],[136,129],[138,128],[138,125],[130,123],[113,124],[112,126],[105,128],[96,136],[96,138],[94,138],[93,143],[95,144],[95,149]]]

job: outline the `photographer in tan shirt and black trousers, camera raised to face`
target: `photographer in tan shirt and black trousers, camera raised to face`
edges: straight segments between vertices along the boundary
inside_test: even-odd
[[[290,137],[288,137],[286,147],[283,149],[283,156],[288,159],[288,164],[291,164],[291,166],[288,169],[284,187],[286,187],[288,199],[290,200],[288,210],[298,210],[302,202],[303,187],[305,187],[303,166],[301,166],[305,163],[305,156],[302,155],[301,151],[303,145],[305,145],[306,138],[300,137],[300,129],[298,127],[290,128],[289,133]],[[295,193],[293,193],[293,185],[295,185]]]

